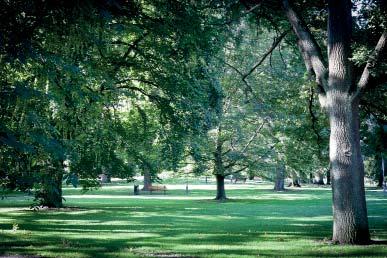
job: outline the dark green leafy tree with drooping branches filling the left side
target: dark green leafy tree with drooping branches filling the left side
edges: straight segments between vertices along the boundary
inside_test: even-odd
[[[164,152],[176,163],[183,149],[177,140],[200,128],[198,111],[207,101],[202,67],[215,45],[203,3],[3,4],[2,185],[20,185],[23,175],[23,188],[41,189],[41,204],[60,207],[61,197],[47,199],[61,196],[65,162],[66,178],[86,179],[86,186],[106,168],[130,177],[118,155],[123,144],[114,144],[122,137],[112,109],[123,95],[161,110],[158,119],[173,131]]]

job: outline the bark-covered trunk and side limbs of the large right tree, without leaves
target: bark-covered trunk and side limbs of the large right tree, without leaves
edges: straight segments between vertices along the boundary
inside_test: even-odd
[[[318,86],[323,90],[319,100],[329,116],[333,241],[340,244],[368,243],[370,236],[364,191],[364,165],[360,152],[358,92],[367,86],[370,73],[366,71],[358,85],[353,82],[350,61],[351,1],[328,0],[328,69],[324,66],[314,37],[288,0],[283,0],[283,7],[299,39],[307,69],[313,71]],[[383,51],[385,39],[384,33],[375,49],[376,55]]]

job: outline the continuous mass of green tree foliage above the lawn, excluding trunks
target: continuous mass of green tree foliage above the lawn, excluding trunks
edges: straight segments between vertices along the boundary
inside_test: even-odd
[[[323,43],[325,4],[294,6]],[[186,162],[200,174],[214,167],[219,149],[225,174],[270,177],[284,162],[290,175],[306,177],[328,167],[327,121],[303,78],[294,36],[266,55],[271,39],[289,29],[280,2],[28,0],[1,7],[2,187],[35,189],[43,200],[60,193],[60,183],[46,185],[62,179],[87,189],[102,173],[132,180],[149,169],[157,178]],[[385,29],[386,8],[359,0],[354,9],[352,61],[360,69]],[[383,77],[384,68],[371,72]],[[365,116],[383,124],[385,87],[364,99]]]

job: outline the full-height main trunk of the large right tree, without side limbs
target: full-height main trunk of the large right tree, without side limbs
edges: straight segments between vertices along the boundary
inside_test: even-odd
[[[327,111],[332,164],[333,241],[370,241],[360,152],[359,100],[354,98],[351,56],[351,1],[328,1],[329,77]]]

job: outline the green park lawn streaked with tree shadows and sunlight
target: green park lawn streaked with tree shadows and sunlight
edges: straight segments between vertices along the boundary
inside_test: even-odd
[[[29,210],[32,197],[0,201],[0,256],[43,257],[387,257],[387,194],[367,191],[370,246],[340,246],[331,236],[331,192],[271,185],[168,185],[166,195],[132,195],[132,186],[82,194],[66,188],[60,210]],[[383,244],[384,243],[384,244]]]

